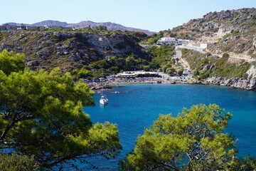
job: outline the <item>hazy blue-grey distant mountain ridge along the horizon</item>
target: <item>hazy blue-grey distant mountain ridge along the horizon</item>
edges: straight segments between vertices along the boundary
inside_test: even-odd
[[[18,25],[17,23],[6,23],[9,25]],[[156,33],[153,31],[148,31],[148,30],[144,30],[144,29],[140,29],[140,28],[132,28],[132,27],[126,27],[126,26],[122,26],[121,24],[114,24],[111,22],[105,22],[105,23],[95,23],[93,21],[81,21],[78,24],[68,24],[67,22],[60,22],[60,21],[53,21],[53,20],[46,20],[46,21],[41,21],[35,24],[24,24],[24,25],[32,25],[32,26],[70,26],[70,27],[75,27],[75,28],[84,28],[86,26],[100,26],[100,25],[104,25],[107,26],[107,30],[109,31],[141,31],[146,33],[147,35],[151,35],[152,33]]]

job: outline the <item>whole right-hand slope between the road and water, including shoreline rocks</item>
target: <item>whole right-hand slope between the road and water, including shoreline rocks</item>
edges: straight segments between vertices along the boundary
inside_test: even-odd
[[[198,81],[218,86],[230,86],[246,90],[256,89],[256,62],[223,57],[210,53],[182,49],[181,62],[185,63]]]

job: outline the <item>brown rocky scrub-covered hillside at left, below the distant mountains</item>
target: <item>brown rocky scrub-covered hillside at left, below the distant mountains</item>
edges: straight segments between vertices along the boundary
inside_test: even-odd
[[[65,71],[82,68],[110,56],[125,58],[134,53],[136,58],[149,60],[133,33],[108,32],[51,32],[0,31],[0,51],[26,54],[31,68],[60,67]],[[135,32],[134,34],[138,34]]]

